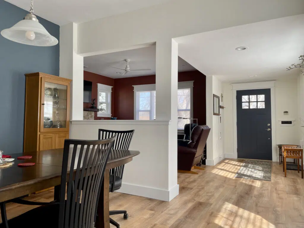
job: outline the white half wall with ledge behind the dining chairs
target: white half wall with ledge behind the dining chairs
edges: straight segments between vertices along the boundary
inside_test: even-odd
[[[168,120],[71,121],[70,137],[73,139],[96,140],[98,139],[98,129],[134,129],[135,133],[129,149],[139,150],[140,155],[134,157],[133,161],[125,165],[123,185],[119,192],[170,201],[178,195],[179,189],[177,181],[175,185],[169,181],[169,175],[171,175],[168,163],[170,125],[171,122]],[[175,171],[177,172],[177,168]]]

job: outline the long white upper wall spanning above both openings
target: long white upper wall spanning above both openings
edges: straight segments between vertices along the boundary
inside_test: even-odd
[[[173,0],[80,23],[78,54],[112,52],[133,45],[302,13],[302,0],[255,0],[246,3],[240,0]]]

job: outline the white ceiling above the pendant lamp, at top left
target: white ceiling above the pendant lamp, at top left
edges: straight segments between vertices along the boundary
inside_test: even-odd
[[[29,10],[30,0],[5,0]],[[57,25],[86,22],[158,5],[169,0],[34,0],[34,14]]]

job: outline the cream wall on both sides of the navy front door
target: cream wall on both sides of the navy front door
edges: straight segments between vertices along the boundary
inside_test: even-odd
[[[275,81],[275,136],[276,144],[288,143],[299,144],[299,121],[298,121],[298,91],[297,78],[281,78]],[[233,90],[230,83],[223,84],[223,96],[225,109],[225,156],[237,158],[233,152]],[[288,111],[289,115],[283,115]],[[294,126],[281,126],[279,120],[295,120]],[[278,148],[276,157],[273,161],[278,161]]]

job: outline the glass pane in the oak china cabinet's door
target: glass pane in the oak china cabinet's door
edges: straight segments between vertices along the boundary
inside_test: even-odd
[[[44,84],[43,128],[66,128],[67,86],[46,81]]]

